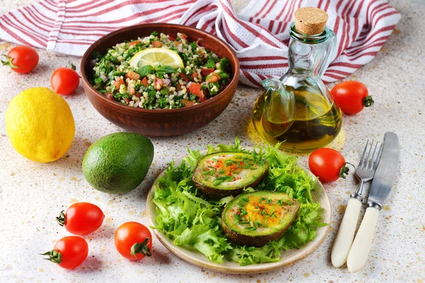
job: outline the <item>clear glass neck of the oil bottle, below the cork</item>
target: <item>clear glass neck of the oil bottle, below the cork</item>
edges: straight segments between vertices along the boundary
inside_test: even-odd
[[[333,32],[325,28],[319,35],[298,33],[295,23],[290,26],[288,52],[289,72],[307,76],[322,76],[328,66],[329,51],[333,50]],[[330,48],[329,48],[330,47]]]

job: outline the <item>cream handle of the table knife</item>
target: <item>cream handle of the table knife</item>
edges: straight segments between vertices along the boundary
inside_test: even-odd
[[[357,231],[353,246],[347,258],[347,267],[350,272],[361,270],[368,260],[370,246],[372,246],[373,234],[378,222],[379,210],[375,207],[368,207]]]

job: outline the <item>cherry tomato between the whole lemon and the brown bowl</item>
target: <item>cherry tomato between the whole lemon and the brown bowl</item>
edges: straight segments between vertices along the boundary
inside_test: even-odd
[[[72,68],[60,67],[56,69],[50,79],[53,91],[62,96],[73,93],[79,85],[79,75]]]

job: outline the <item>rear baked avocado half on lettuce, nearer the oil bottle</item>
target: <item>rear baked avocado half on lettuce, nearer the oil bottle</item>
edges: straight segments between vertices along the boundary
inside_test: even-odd
[[[196,187],[213,199],[237,196],[255,187],[268,173],[268,163],[244,152],[217,152],[200,158],[193,172]]]

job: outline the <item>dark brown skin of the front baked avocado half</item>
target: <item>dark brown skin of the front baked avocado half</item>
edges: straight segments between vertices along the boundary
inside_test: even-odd
[[[268,193],[268,191],[264,191],[264,192]],[[282,192],[282,194],[283,194],[283,192]],[[244,194],[244,195],[249,195],[249,194]],[[240,197],[243,197],[244,195],[241,195]],[[226,236],[229,238],[229,240],[232,241],[232,243],[236,243],[237,245],[240,245],[240,246],[262,247],[270,241],[278,240],[280,237],[283,236],[283,234],[286,231],[288,231],[289,227],[291,226],[291,224],[295,220],[298,212],[300,211],[300,202],[298,202],[295,199],[293,199],[293,202],[294,202],[294,204],[290,205],[290,208],[291,208],[290,213],[293,214],[293,219],[286,226],[284,226],[281,230],[276,231],[276,233],[272,233],[272,234],[269,234],[269,235],[262,235],[262,236],[247,236],[247,235],[243,235],[241,233],[237,233],[237,231],[232,230],[232,228],[227,226],[227,224],[225,223],[225,221],[223,219],[224,218],[223,214],[226,212],[227,205],[229,203],[226,204],[226,207],[225,207],[225,209],[223,209],[223,212],[222,212],[222,217],[221,217],[222,229],[225,232]]]

